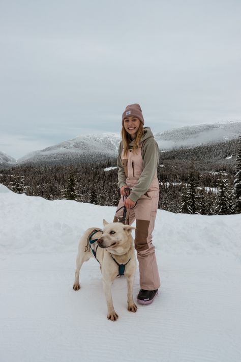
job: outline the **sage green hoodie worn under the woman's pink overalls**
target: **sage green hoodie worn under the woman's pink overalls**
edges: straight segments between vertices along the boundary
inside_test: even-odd
[[[153,182],[157,166],[159,163],[159,148],[158,144],[155,141],[153,132],[149,127],[144,127],[144,135],[142,137],[142,148],[141,148],[141,156],[143,159],[143,171],[141,176],[137,182],[137,184],[133,187],[130,199],[136,202],[150,187]],[[133,149],[134,140],[130,143],[129,149]],[[118,166],[118,187],[122,188],[122,186],[126,185],[126,175],[125,170],[122,165],[122,150],[123,144],[120,142],[118,158],[117,158],[117,166]]]

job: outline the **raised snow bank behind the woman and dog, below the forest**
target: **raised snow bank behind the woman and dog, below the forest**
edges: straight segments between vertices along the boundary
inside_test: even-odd
[[[2,190],[2,191],[1,191]],[[49,201],[0,188],[0,252],[75,251],[85,229],[113,220],[115,208]],[[241,214],[203,216],[158,210],[153,233],[158,250],[174,254],[240,256]]]

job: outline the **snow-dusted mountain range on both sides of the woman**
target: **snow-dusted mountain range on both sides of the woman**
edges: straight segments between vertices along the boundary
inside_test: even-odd
[[[241,135],[241,122],[222,122],[175,128],[156,133],[154,136],[160,150],[164,151],[230,141],[239,135]],[[117,155],[119,142],[120,135],[117,133],[80,135],[72,140],[28,153],[17,161],[0,152],[0,164],[12,166],[29,162],[73,163],[79,160],[103,160]]]

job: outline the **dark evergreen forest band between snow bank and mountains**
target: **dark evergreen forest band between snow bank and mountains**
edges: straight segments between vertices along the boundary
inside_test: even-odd
[[[229,146],[225,156],[232,156],[232,162],[226,157],[217,160],[223,152],[217,144],[161,152],[159,208],[203,215],[241,213],[241,141]],[[116,206],[117,169],[104,171],[115,164],[115,158],[73,165],[24,164],[1,170],[0,183],[48,200]]]

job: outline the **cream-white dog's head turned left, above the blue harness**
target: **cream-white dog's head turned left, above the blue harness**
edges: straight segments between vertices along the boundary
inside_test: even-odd
[[[111,253],[122,254],[126,252],[126,249],[129,249],[133,242],[133,238],[130,236],[131,231],[135,228],[123,225],[121,222],[109,224],[105,220],[103,220],[103,225],[102,236],[97,240],[98,246],[106,248]]]

